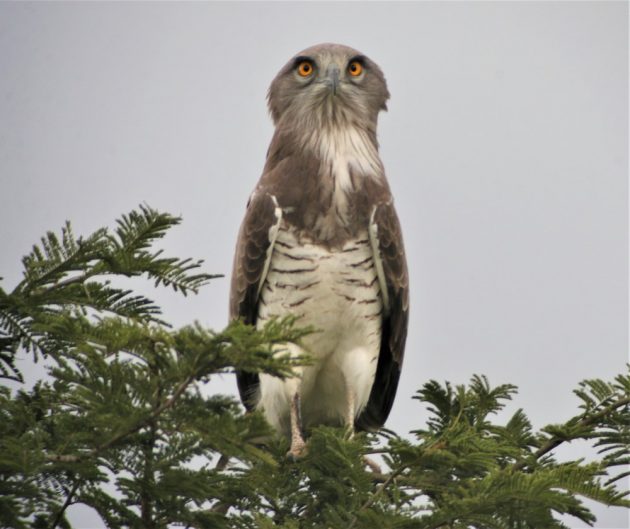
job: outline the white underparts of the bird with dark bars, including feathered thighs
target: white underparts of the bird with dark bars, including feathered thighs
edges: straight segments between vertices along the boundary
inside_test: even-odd
[[[301,396],[305,427],[341,425],[362,411],[374,383],[382,310],[367,230],[341,248],[328,249],[298,239],[282,223],[260,293],[257,325],[294,314],[299,317],[297,325],[317,331],[305,337],[301,347],[286,344],[279,352],[307,352],[313,365],[289,380],[260,377],[259,408],[272,426],[288,432],[290,400],[296,392]]]

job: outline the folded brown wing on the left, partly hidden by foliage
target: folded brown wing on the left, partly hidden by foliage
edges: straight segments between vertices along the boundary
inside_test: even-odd
[[[269,267],[273,232],[281,220],[275,198],[257,191],[247,204],[236,243],[230,285],[230,320],[256,324],[259,287]],[[260,384],[257,373],[236,372],[241,400],[248,410],[256,406]]]

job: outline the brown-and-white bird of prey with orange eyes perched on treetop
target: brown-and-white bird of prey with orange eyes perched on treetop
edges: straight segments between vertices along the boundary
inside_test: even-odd
[[[381,69],[339,44],[302,51],[269,88],[275,132],[238,236],[230,318],[260,328],[293,314],[318,330],[283,348],[313,362],[294,378],[237,373],[245,407],[295,457],[314,425],[381,427],[398,386],[409,285],[376,138],[388,99]]]

